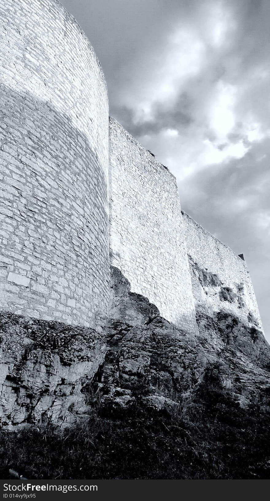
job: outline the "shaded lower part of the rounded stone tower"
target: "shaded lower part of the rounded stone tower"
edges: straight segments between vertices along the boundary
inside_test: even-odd
[[[92,325],[109,300],[106,175],[71,117],[0,93],[0,307]]]

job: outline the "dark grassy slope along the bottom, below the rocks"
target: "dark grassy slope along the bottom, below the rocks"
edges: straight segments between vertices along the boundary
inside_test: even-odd
[[[0,435],[1,478],[29,479],[270,478],[269,412],[241,409],[203,383],[174,415],[134,406],[93,412],[87,425]]]

